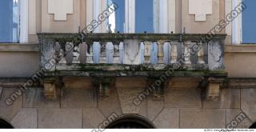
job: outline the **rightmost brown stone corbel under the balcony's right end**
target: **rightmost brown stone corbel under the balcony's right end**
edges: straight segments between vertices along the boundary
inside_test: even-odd
[[[208,78],[206,81],[207,100],[218,101],[223,82],[224,78]]]

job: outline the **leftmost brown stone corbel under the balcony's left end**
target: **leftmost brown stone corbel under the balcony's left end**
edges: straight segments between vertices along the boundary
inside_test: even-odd
[[[61,87],[60,80],[58,78],[46,78],[42,83],[46,99],[56,99]]]

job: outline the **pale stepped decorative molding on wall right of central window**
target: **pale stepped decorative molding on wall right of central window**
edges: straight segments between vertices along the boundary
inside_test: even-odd
[[[206,21],[206,14],[213,14],[213,1],[189,0],[189,14],[195,15],[195,21]]]

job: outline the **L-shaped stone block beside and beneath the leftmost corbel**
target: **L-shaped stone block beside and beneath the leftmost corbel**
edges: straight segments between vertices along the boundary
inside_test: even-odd
[[[28,88],[23,94],[22,106],[25,108],[59,108],[60,98],[46,99],[42,88]]]

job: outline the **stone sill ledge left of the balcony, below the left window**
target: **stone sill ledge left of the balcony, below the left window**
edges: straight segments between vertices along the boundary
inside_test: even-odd
[[[38,44],[0,43],[0,52],[38,52]]]

